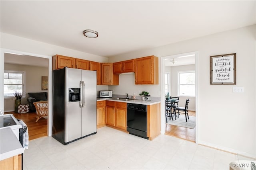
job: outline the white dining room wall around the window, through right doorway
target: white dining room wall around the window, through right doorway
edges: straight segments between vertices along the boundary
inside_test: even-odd
[[[182,65],[182,66],[172,66],[171,68],[171,91],[170,96],[178,96],[178,72],[180,71],[190,71],[196,70],[195,64]],[[186,104],[186,99],[190,99],[188,104],[188,110],[196,111],[196,98],[191,96],[180,96],[179,106],[184,107]]]

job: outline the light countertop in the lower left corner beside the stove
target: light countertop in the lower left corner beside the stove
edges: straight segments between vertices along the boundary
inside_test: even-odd
[[[24,148],[11,128],[1,128],[0,139],[0,160],[24,153]]]

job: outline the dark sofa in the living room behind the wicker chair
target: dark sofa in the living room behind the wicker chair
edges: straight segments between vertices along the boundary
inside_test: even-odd
[[[36,112],[36,107],[34,106],[34,102],[39,101],[47,101],[47,92],[39,92],[39,93],[28,93],[29,97],[27,98],[29,111]]]

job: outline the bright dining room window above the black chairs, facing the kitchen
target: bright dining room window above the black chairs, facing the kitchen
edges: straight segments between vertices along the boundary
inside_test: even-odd
[[[178,72],[178,96],[196,96],[195,71]]]

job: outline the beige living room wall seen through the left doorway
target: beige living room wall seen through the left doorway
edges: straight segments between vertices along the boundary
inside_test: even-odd
[[[25,95],[21,99],[21,104],[28,104],[29,92],[47,92],[42,90],[42,76],[48,76],[47,67],[26,66],[19,64],[4,64],[4,70],[15,70],[25,72]],[[14,111],[15,98],[4,99],[4,112]]]

